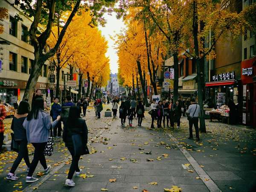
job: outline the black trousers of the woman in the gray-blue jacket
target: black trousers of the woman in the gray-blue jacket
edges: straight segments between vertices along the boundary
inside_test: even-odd
[[[35,147],[34,157],[29,166],[28,177],[32,177],[36,166],[38,165],[38,161],[40,161],[41,165],[44,167],[44,170],[47,169],[46,160],[44,157],[44,148],[47,142],[45,143],[32,143]]]

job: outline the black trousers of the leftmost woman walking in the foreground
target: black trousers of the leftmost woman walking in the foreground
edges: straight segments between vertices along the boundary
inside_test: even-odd
[[[13,163],[12,165],[12,169],[10,171],[10,173],[15,173],[17,167],[19,166],[22,158],[24,158],[24,161],[26,163],[26,166],[30,166],[30,162],[29,162],[29,152],[28,152],[28,141],[25,139],[25,140],[17,140],[17,143],[19,143],[20,145],[20,148],[19,148],[19,153],[18,153],[18,156],[15,160],[15,162]]]

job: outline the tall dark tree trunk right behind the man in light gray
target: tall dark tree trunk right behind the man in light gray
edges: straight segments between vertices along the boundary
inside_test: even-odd
[[[204,83],[204,75],[201,72],[200,67],[200,58],[199,58],[199,47],[198,47],[198,12],[197,12],[197,4],[193,4],[193,37],[195,44],[195,64],[197,69],[197,81],[198,81],[198,105],[200,106],[199,113],[199,121],[200,121],[200,131],[206,133],[205,120],[204,120],[204,106],[203,106],[203,83]]]

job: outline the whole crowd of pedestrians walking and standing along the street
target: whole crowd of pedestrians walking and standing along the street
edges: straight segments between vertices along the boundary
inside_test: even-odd
[[[24,159],[27,166],[27,176],[26,182],[31,183],[38,180],[38,178],[33,177],[33,173],[38,165],[38,162],[44,168],[44,174],[47,174],[51,169],[51,166],[46,163],[45,150],[47,148],[47,142],[49,142],[49,136],[53,130],[53,137],[61,137],[61,121],[64,124],[63,127],[63,141],[70,151],[72,156],[72,163],[70,165],[70,171],[68,177],[65,181],[65,186],[75,186],[72,180],[73,175],[79,176],[81,174],[81,169],[79,169],[79,159],[82,154],[87,154],[87,152],[78,153],[77,144],[75,143],[74,136],[80,135],[84,148],[87,146],[87,134],[88,129],[84,119],[81,118],[81,113],[86,116],[86,110],[89,106],[89,98],[80,99],[77,104],[72,101],[70,95],[64,98],[62,105],[59,104],[58,97],[52,99],[50,114],[45,111],[47,108],[47,102],[41,96],[41,91],[37,90],[35,96],[33,97],[32,108],[30,110],[29,103],[27,101],[20,102],[18,106],[17,113],[15,113],[12,120],[12,130],[14,131],[14,140],[19,145],[19,151],[15,162],[6,179],[18,180],[19,178],[15,174],[15,171]],[[140,98],[100,98],[95,99],[93,104],[95,109],[95,116],[101,118],[101,111],[103,110],[103,104],[109,105],[112,102],[113,117],[116,118],[117,110],[119,109],[119,118],[121,119],[121,125],[125,126],[126,118],[128,119],[128,126],[133,126],[134,118],[137,119],[138,126],[142,125],[143,118],[145,117],[145,107]],[[120,103],[120,106],[119,105]],[[148,101],[150,102],[150,100]],[[181,100],[179,97],[175,102],[173,99],[162,99],[156,103],[153,99],[150,105],[151,115],[151,128],[154,128],[154,121],[157,120],[157,128],[163,127],[175,128],[175,122],[177,122],[176,128],[180,128],[180,118],[185,116],[187,113],[189,119],[189,139],[193,139],[192,126],[195,127],[195,137],[199,140],[198,131],[198,114],[200,112],[199,105],[196,104],[195,99]],[[2,137],[3,137],[3,119],[6,117],[5,108],[0,105],[0,146],[2,147]],[[51,119],[52,117],[52,119]],[[73,138],[74,137],[74,138]],[[35,147],[33,160],[30,163],[28,157],[27,144],[32,143]],[[80,142],[81,144],[81,142]],[[85,147],[86,146],[86,147]]]

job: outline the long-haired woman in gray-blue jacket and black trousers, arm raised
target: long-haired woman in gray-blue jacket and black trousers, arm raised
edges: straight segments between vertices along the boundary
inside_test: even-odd
[[[47,102],[43,98],[35,99],[32,110],[23,122],[23,127],[26,129],[26,136],[28,143],[32,143],[35,147],[34,157],[29,167],[29,173],[26,177],[26,182],[32,183],[38,180],[38,178],[32,177],[38,161],[44,167],[44,174],[46,175],[51,169],[51,166],[47,166],[44,157],[44,148],[49,140],[49,130],[51,127],[57,125],[61,120],[61,116],[57,116],[57,119],[52,122],[49,113],[44,111],[47,106]]]

